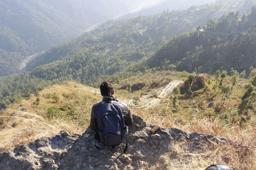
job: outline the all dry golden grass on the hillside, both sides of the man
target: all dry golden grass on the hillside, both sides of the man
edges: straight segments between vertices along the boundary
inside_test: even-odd
[[[188,143],[175,143],[173,152],[162,155],[159,164],[141,169],[204,169],[210,164],[226,164],[234,169],[256,169],[256,117],[251,111],[250,119],[241,121],[244,120],[243,115],[237,113],[246,79],[239,78],[224,104],[223,94],[213,89],[215,81],[212,77],[205,91],[198,90],[191,96],[179,94],[176,107],[173,106],[172,96],[163,97],[159,106],[148,110],[140,105],[143,103],[141,96],[152,94],[154,98],[157,90],[163,89],[170,81],[183,81],[187,77],[188,73],[171,71],[141,73],[115,83],[115,87],[119,89],[140,82],[144,82],[145,87],[134,92],[129,89],[116,90],[116,96],[133,103],[130,106],[132,113],[150,124],[176,127],[188,133],[222,136],[235,143],[204,143],[200,152],[189,151],[186,148]],[[224,83],[230,81],[231,78],[227,77]],[[4,111],[0,119],[0,125],[3,124],[0,129],[2,152],[41,136],[52,136],[60,130],[81,134],[89,124],[92,105],[100,99],[97,89],[74,82],[54,85],[32,94]],[[214,104],[209,107],[209,103]],[[18,110],[19,106],[27,111]]]

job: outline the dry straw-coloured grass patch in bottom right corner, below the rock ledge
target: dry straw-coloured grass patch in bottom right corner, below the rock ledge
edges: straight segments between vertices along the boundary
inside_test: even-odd
[[[205,143],[200,152],[191,152],[187,146],[191,143],[176,143],[173,151],[160,158],[160,164],[152,169],[205,169],[211,164],[224,164],[232,169],[255,169],[252,151],[235,145]],[[252,166],[250,166],[252,165]]]

